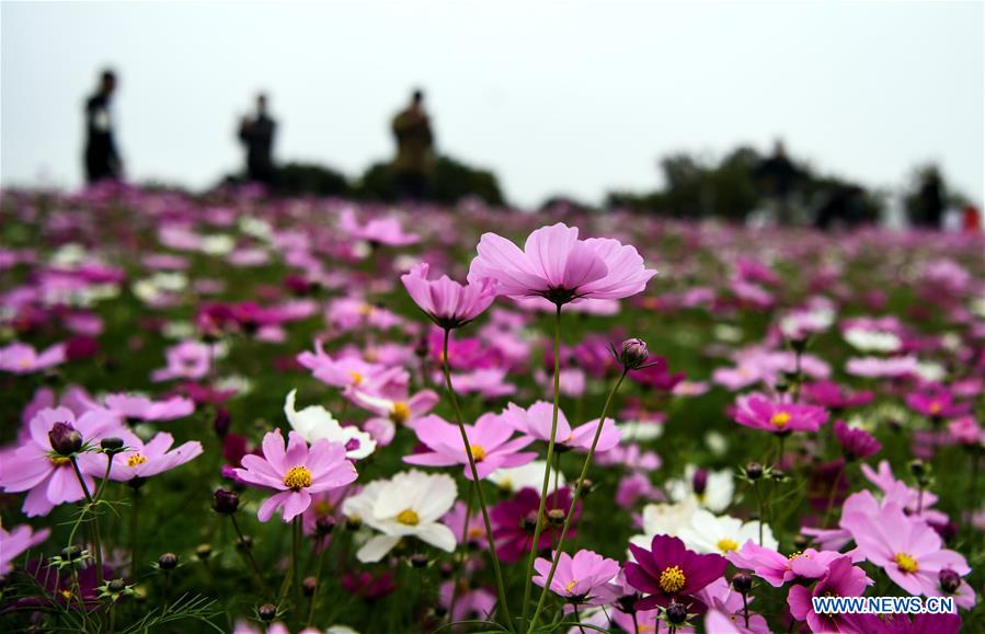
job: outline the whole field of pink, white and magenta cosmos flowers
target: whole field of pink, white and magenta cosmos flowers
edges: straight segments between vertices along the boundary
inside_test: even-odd
[[[9,191],[0,293],[3,631],[985,631],[981,234]]]

